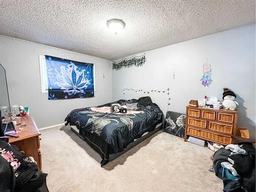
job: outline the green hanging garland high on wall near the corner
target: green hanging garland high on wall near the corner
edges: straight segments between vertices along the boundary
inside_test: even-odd
[[[119,70],[124,68],[130,68],[132,66],[140,67],[144,65],[146,61],[145,54],[141,56],[132,56],[130,58],[122,58],[117,62],[113,62],[113,70]]]

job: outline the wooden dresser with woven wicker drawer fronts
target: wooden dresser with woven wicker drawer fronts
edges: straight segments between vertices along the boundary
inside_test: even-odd
[[[237,111],[186,107],[187,136],[227,145],[232,143],[231,135],[237,134]]]

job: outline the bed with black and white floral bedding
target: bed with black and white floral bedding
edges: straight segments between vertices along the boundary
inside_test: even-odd
[[[70,124],[71,130],[99,153],[101,166],[162,129],[163,113],[149,97],[115,103],[138,103],[138,111],[110,113],[111,103],[106,103],[96,108],[75,109],[65,119],[66,126]]]

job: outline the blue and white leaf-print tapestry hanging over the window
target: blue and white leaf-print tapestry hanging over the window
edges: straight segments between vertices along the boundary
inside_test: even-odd
[[[45,57],[49,100],[94,97],[92,63]]]

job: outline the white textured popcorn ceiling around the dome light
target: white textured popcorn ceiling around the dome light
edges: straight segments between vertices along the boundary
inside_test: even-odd
[[[0,34],[112,60],[254,22],[254,0],[0,0]]]

